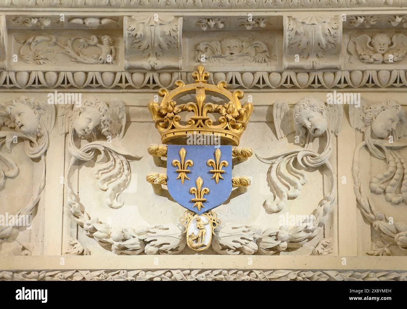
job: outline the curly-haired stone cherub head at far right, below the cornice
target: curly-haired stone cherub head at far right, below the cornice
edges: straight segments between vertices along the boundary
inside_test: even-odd
[[[372,132],[379,138],[386,138],[396,131],[399,123],[405,121],[405,111],[394,102],[384,104],[372,104],[365,107],[364,122],[366,126],[372,126]]]

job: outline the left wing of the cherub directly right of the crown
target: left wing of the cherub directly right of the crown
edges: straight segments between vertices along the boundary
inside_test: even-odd
[[[277,139],[282,139],[295,132],[293,112],[286,100],[278,100],[273,105],[273,120]]]

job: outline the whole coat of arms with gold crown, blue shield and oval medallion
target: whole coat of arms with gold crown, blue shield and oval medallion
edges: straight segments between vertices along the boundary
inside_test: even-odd
[[[161,103],[149,103],[163,144],[150,145],[148,150],[158,165],[162,157],[167,161],[166,174],[150,173],[147,181],[156,194],[166,185],[171,197],[186,208],[180,221],[186,227],[187,244],[203,251],[221,223],[213,209],[228,200],[232,187],[244,188],[251,183],[249,177],[232,177],[232,157],[241,160],[253,153],[251,148],[237,147],[253,105],[246,102],[242,106],[243,91],[228,91],[225,81],[208,84],[204,66],[197,69],[193,73],[195,83],[177,80],[173,91],[159,90]],[[195,94],[196,102],[187,101],[191,94]],[[183,115],[188,112],[193,116]]]

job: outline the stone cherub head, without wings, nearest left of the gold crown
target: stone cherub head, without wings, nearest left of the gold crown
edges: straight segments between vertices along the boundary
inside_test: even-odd
[[[74,108],[73,128],[79,137],[89,136],[94,129],[108,136],[110,123],[112,118],[107,105],[96,97],[88,97],[81,107]]]

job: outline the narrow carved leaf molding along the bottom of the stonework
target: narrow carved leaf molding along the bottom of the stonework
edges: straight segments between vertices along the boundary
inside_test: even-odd
[[[0,281],[406,281],[403,271],[354,270],[33,270],[0,271]]]

